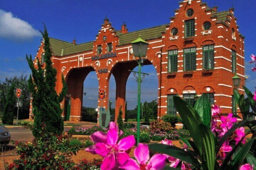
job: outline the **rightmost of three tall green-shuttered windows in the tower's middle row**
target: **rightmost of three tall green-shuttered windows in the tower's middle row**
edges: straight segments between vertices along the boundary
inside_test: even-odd
[[[214,46],[213,44],[203,46],[203,70],[214,69]]]

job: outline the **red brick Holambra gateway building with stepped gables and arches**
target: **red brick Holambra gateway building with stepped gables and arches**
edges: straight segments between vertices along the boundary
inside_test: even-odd
[[[68,85],[68,95],[61,103],[62,107],[66,105],[64,119],[81,120],[83,82],[91,71],[96,71],[98,88],[106,90],[104,107],[108,106],[109,79],[113,74],[117,118],[118,108],[125,105],[128,70],[138,65],[131,42],[139,35],[149,43],[144,65],[152,64],[157,72],[158,118],[176,114],[174,95],[193,104],[195,94],[205,93],[211,103],[222,107],[223,113],[232,109],[236,112],[231,78],[235,74],[241,78],[238,91],[244,93],[245,37],[238,31],[233,11],[217,11],[201,0],[186,0],[179,2],[179,9],[174,10],[168,24],[134,32],[128,32],[124,24],[117,31],[105,18],[94,41],[76,44],[50,38],[52,61],[58,72],[56,90],[61,91],[62,74]],[[43,42],[36,58],[43,61]],[[30,110],[32,116],[32,106]],[[122,110],[124,113],[124,107]]]

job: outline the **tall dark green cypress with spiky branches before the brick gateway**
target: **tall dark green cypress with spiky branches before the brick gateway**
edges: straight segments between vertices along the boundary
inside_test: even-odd
[[[32,132],[35,137],[39,137],[39,132],[42,128],[46,133],[61,134],[63,132],[63,119],[61,117],[63,110],[60,107],[60,102],[67,93],[67,85],[63,75],[62,91],[59,95],[55,91],[57,70],[52,66],[52,51],[45,25],[44,32],[40,32],[44,40],[45,70],[41,68],[39,60],[37,61],[38,69],[36,70],[31,55],[29,58],[26,56],[32,71],[32,76],[30,75],[28,79],[28,87],[33,97],[32,106],[35,118]]]

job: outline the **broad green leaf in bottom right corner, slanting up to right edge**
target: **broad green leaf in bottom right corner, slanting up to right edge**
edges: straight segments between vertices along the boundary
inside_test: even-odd
[[[251,148],[251,145],[253,144],[254,138],[252,138],[248,143],[244,144],[242,148],[238,151],[237,154],[232,159],[232,165],[233,167],[239,167],[241,162],[245,159],[246,154]]]

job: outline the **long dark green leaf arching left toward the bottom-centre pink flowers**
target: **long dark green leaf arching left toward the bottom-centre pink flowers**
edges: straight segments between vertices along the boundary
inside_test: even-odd
[[[200,166],[200,163],[198,162],[198,160],[191,153],[188,153],[178,147],[173,147],[173,146],[164,145],[164,144],[149,144],[148,146],[149,146],[149,150],[153,150],[156,152],[167,154],[169,156],[173,156],[187,163],[190,163],[195,167]]]

